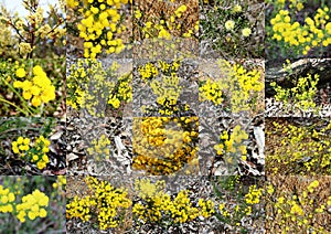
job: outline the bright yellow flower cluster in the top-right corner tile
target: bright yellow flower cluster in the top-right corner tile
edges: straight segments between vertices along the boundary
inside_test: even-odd
[[[303,6],[302,6],[303,7]],[[301,9],[301,7],[299,7]],[[284,41],[289,46],[295,46],[299,53],[306,55],[312,47],[328,46],[331,44],[331,22],[329,8],[319,8],[313,19],[307,17],[305,24],[295,21],[288,10],[280,10],[270,20],[273,39]]]

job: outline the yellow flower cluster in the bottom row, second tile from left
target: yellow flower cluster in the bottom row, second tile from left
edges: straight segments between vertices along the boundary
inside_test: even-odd
[[[124,189],[114,188],[109,182],[87,177],[85,182],[93,195],[85,198],[75,196],[66,204],[66,217],[78,217],[88,221],[97,216],[100,230],[116,227],[124,219],[120,214],[131,206],[131,200]]]

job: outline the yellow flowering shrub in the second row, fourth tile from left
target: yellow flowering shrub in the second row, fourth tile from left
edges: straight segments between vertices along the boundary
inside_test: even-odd
[[[249,110],[256,105],[258,92],[264,88],[260,71],[246,70],[243,65],[218,60],[217,65],[225,77],[214,81],[206,77],[200,82],[200,100],[211,100],[215,106],[229,108],[232,113]]]

